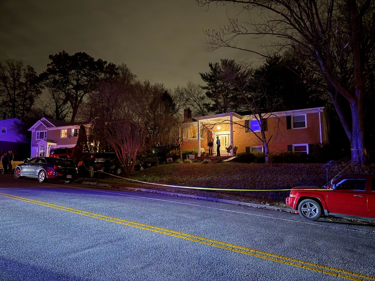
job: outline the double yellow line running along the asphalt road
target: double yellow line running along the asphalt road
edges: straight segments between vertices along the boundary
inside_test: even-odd
[[[196,235],[190,235],[188,233],[177,232],[174,230],[169,230],[169,229],[156,227],[156,226],[150,226],[150,225],[142,224],[142,223],[136,223],[134,221],[128,221],[128,220],[123,220],[120,218],[109,217],[106,215],[101,215],[101,214],[83,211],[80,209],[60,206],[60,205],[56,205],[56,204],[52,204],[48,202],[33,200],[33,199],[26,198],[26,197],[15,196],[12,194],[0,193],[0,196],[8,197],[11,199],[16,199],[16,200],[21,200],[24,202],[33,203],[33,204],[37,204],[41,206],[46,206],[46,207],[58,209],[61,211],[71,212],[74,214],[85,215],[87,217],[97,218],[99,220],[105,220],[105,221],[110,221],[113,223],[123,224],[126,226],[136,227],[138,229],[144,229],[144,230],[157,232],[157,233],[164,234],[164,235],[174,236],[177,238],[186,239],[186,240],[193,241],[193,242],[198,242],[198,243],[210,245],[213,247],[218,247],[218,248],[222,248],[222,249],[229,250],[229,251],[234,251],[234,252],[241,253],[241,254],[258,257],[261,259],[271,260],[273,262],[284,263],[285,265],[296,266],[296,267],[303,268],[303,269],[321,272],[323,274],[333,275],[335,277],[341,277],[341,278],[346,278],[350,280],[375,280],[375,277],[372,277],[369,275],[346,271],[343,269],[333,268],[330,266],[319,265],[317,263],[306,262],[304,260],[293,259],[291,257],[284,257],[284,256],[280,256],[277,254],[267,253],[264,251],[255,250],[255,249],[248,248],[248,247],[229,244],[229,243],[216,241],[213,239],[204,238],[204,237],[200,237]]]

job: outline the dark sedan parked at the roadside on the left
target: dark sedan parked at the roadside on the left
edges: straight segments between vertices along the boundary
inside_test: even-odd
[[[45,182],[48,179],[60,179],[69,183],[77,179],[78,171],[74,164],[64,159],[34,157],[15,167],[14,177],[20,179],[24,176],[37,178],[39,182]]]

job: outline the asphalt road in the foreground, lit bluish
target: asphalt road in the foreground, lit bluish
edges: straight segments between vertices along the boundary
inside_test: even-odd
[[[0,280],[375,280],[374,224],[11,175],[0,212]]]

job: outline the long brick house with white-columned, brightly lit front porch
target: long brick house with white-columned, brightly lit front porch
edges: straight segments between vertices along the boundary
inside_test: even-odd
[[[329,143],[329,119],[324,107],[298,109],[265,114],[266,138],[269,152],[288,150],[309,154],[312,145]],[[216,151],[216,137],[220,139],[220,154],[226,155],[226,147],[237,146],[238,152],[263,151],[263,143],[248,127],[260,135],[260,125],[250,112],[228,112],[191,118],[189,108],[184,110],[184,119],[191,120],[184,128],[182,149],[198,148],[208,151],[210,138]],[[231,150],[233,155],[233,149]]]

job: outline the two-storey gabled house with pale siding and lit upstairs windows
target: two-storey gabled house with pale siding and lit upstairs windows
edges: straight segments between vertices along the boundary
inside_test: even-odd
[[[90,122],[68,123],[62,120],[43,117],[30,129],[30,157],[49,156],[51,148],[74,147],[82,124]]]

